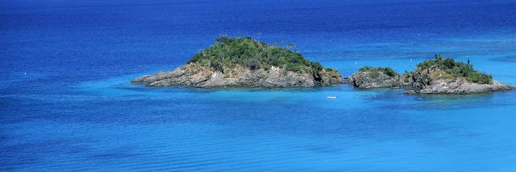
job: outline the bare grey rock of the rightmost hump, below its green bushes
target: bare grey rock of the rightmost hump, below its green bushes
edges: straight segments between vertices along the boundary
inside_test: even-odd
[[[453,77],[438,67],[416,68],[413,72],[412,90],[407,94],[474,94],[497,92],[515,87],[493,81],[491,84],[471,83],[462,77]]]

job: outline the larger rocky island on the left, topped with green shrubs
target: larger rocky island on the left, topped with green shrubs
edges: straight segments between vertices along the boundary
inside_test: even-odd
[[[186,65],[141,76],[131,83],[149,87],[314,87],[344,83],[335,69],[310,62],[290,49],[244,38],[222,36],[197,52]]]

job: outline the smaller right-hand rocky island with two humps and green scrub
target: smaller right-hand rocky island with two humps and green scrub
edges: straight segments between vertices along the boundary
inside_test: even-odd
[[[419,63],[413,72],[398,74],[390,67],[362,67],[348,77],[360,88],[407,88],[407,94],[473,94],[514,89],[493,80],[493,76],[473,69],[469,63],[435,56]]]

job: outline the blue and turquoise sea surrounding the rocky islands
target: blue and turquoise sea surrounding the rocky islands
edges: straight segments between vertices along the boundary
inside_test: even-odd
[[[0,171],[516,169],[516,91],[129,84],[221,34],[343,76],[438,53],[516,85],[515,1],[1,0]]]

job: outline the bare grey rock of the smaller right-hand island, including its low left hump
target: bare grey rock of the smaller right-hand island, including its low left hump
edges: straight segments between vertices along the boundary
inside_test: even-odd
[[[493,81],[492,84],[471,83],[453,77],[438,67],[416,68],[411,74],[388,76],[383,72],[356,72],[349,76],[350,84],[360,88],[408,88],[407,94],[474,94],[514,89],[515,87]]]

